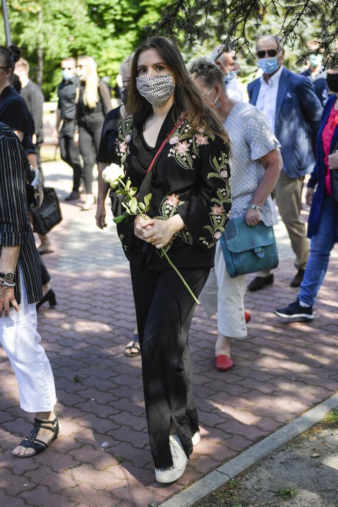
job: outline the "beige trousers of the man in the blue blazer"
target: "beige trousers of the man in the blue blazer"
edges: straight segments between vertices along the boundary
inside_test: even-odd
[[[284,171],[281,171],[273,191],[279,215],[287,228],[291,247],[296,256],[296,269],[305,269],[309,254],[306,226],[300,215],[303,180],[303,177],[290,178]],[[257,274],[258,276],[267,276],[269,273],[271,271],[262,271]]]

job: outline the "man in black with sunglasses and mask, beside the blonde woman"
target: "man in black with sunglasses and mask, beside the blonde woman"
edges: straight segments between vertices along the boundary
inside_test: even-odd
[[[76,93],[79,80],[75,74],[75,58],[65,58],[61,62],[63,80],[58,88],[57,124],[54,137],[59,136],[61,158],[73,169],[73,189],[66,197],[66,201],[73,201],[80,196],[79,186],[82,174],[80,150],[77,144],[76,124]],[[60,125],[62,122],[62,127]]]

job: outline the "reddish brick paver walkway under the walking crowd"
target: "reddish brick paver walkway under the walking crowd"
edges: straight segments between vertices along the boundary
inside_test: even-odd
[[[71,179],[62,162],[45,164],[61,198]],[[5,354],[0,369],[0,504],[7,507],[146,507],[160,504],[220,463],[327,398],[338,388],[338,301],[333,252],[330,271],[308,325],[285,325],[272,310],[296,294],[289,281],[293,255],[278,227],[280,265],[275,284],[246,297],[249,335],[233,346],[235,368],[213,365],[216,320],[196,311],[190,333],[195,400],[202,442],[176,484],[155,483],[143,405],[141,361],[123,355],[134,328],[128,264],[108,215],[99,231],[94,209],[62,204],[64,220],[51,234],[55,253],[44,256],[58,305],[39,312],[39,330],[57,383],[61,437],[33,459],[12,457],[31,428],[18,408]],[[107,212],[109,208],[107,206]]]

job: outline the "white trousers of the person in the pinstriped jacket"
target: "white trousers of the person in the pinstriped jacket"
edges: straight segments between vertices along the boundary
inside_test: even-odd
[[[19,387],[20,407],[26,412],[49,412],[57,402],[53,372],[37,332],[35,303],[27,300],[20,270],[19,311],[10,309],[0,318],[0,343],[13,367]]]

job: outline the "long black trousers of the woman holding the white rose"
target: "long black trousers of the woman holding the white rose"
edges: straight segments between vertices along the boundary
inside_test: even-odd
[[[199,296],[210,268],[180,269]],[[191,436],[198,431],[192,399],[188,332],[196,303],[172,269],[149,271],[130,264],[151,452],[156,468],[173,464],[171,426],[187,457]]]

